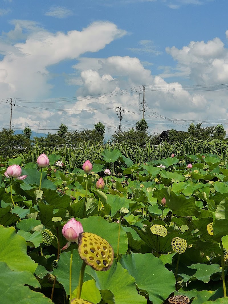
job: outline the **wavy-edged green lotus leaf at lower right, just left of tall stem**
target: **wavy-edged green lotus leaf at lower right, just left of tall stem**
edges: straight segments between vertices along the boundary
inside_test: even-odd
[[[184,282],[188,282],[189,280],[196,278],[199,281],[208,283],[211,275],[220,272],[221,269],[218,264],[207,265],[198,263],[178,268],[178,275],[183,278]]]

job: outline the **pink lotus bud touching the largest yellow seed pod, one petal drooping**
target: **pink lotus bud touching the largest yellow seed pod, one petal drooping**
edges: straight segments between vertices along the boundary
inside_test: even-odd
[[[83,232],[83,227],[80,222],[76,221],[74,218],[69,220],[62,230],[62,234],[67,239],[67,244],[62,248],[62,250],[67,249],[71,242],[77,242],[79,234]]]

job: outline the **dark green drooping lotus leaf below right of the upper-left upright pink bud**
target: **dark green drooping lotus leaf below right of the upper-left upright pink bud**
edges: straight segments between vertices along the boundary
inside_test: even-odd
[[[68,195],[58,195],[58,192],[51,189],[42,189],[43,197],[49,205],[53,205],[55,209],[68,208],[72,202]]]

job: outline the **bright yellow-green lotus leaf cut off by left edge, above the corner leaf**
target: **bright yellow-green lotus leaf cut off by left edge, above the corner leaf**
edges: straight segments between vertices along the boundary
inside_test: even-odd
[[[30,271],[34,273],[37,264],[27,255],[26,240],[16,234],[13,227],[0,225],[0,261],[5,262],[15,271]]]

